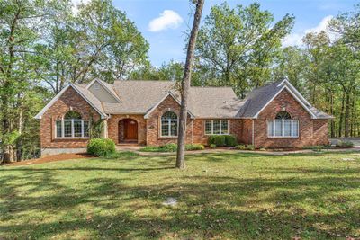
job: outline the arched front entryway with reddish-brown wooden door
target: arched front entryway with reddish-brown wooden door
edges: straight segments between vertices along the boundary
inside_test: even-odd
[[[119,121],[119,143],[138,143],[138,122],[133,119]]]

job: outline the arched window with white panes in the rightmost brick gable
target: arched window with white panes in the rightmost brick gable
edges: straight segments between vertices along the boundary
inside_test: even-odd
[[[297,138],[299,137],[299,121],[292,120],[287,111],[277,113],[275,120],[267,122],[267,136],[275,138]]]

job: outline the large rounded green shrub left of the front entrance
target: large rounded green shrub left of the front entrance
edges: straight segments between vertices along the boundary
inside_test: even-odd
[[[93,156],[106,156],[115,153],[115,143],[109,138],[93,138],[87,144],[87,153]]]

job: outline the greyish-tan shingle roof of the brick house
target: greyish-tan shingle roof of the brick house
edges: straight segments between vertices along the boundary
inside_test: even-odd
[[[120,102],[100,102],[84,84],[76,86],[96,107],[108,114],[146,114],[169,92],[180,99],[177,85],[173,81],[119,80],[114,84],[102,83],[119,97]],[[239,100],[230,87],[191,87],[188,109],[196,118],[254,118],[283,89],[284,84],[289,83],[278,81],[266,84],[254,89],[244,100]],[[311,105],[307,107],[316,118],[332,118]]]

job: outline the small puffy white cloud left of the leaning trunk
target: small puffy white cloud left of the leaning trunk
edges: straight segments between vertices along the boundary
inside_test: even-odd
[[[164,10],[160,16],[148,22],[148,31],[163,31],[175,29],[183,23],[183,18],[172,10]]]

